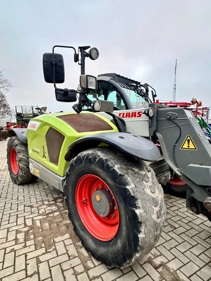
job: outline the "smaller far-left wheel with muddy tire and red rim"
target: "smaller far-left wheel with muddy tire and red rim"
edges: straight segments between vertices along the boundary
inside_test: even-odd
[[[28,146],[16,136],[8,140],[7,164],[10,177],[14,183],[32,183],[37,180],[37,177],[30,173]]]

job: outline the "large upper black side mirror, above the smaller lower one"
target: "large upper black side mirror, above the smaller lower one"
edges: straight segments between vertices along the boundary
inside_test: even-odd
[[[61,54],[44,53],[42,57],[43,73],[47,83],[64,83],[64,60]],[[55,66],[55,81],[53,67]]]

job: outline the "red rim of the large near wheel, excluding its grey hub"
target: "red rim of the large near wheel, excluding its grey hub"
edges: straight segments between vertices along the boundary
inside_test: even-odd
[[[116,209],[113,210],[112,214],[109,214],[109,218],[99,216],[92,205],[92,194],[95,192],[95,188],[107,189],[113,196],[115,201]],[[119,211],[118,205],[111,189],[108,185],[98,176],[85,175],[78,181],[75,191],[75,201],[80,219],[82,220],[86,229],[95,238],[101,241],[109,241],[115,237],[119,228]]]

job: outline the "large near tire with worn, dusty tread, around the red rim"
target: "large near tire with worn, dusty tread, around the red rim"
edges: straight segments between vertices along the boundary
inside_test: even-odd
[[[97,213],[94,214],[94,205],[91,205],[90,201],[94,191],[91,191],[89,183],[85,182],[78,193],[81,181],[89,176],[93,176],[93,179],[99,178],[106,184],[107,191],[109,189],[117,205],[117,228],[111,226],[111,233],[108,234],[105,226],[102,238],[99,237],[100,232],[94,228],[99,226],[103,233],[102,218]],[[93,182],[92,188],[95,186],[99,187],[98,180]],[[66,172],[64,191],[68,215],[75,233],[93,257],[107,266],[124,268],[142,259],[157,243],[165,221],[163,190],[154,171],[142,160],[138,161],[105,147],[88,149],[71,160]],[[88,198],[83,198],[84,194]],[[96,222],[92,223],[93,220],[89,220],[87,209],[82,207],[82,202],[88,207],[87,214],[90,217],[96,216]],[[112,210],[107,221],[112,221],[110,217],[114,212]]]

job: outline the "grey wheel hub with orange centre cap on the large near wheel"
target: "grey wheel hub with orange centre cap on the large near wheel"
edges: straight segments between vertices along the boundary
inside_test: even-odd
[[[99,216],[107,217],[114,211],[115,202],[109,191],[101,189],[92,194],[92,206]]]

